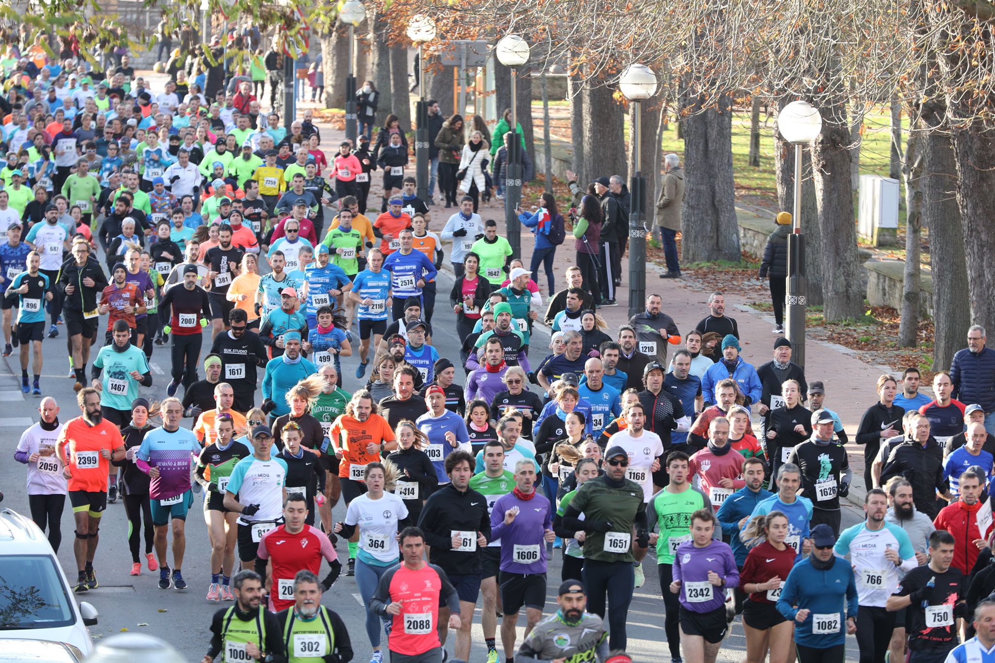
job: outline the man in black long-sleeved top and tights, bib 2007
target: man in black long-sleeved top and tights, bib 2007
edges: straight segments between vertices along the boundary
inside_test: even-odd
[[[203,342],[202,330],[210,318],[210,299],[207,292],[197,285],[198,271],[194,265],[183,268],[183,285],[170,288],[159,302],[163,311],[170,311],[169,324],[163,332],[171,334],[172,380],[166,387],[170,396],[180,384],[189,387],[197,376],[197,363]]]

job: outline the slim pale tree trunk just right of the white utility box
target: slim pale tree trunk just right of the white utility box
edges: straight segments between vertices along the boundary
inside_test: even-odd
[[[899,110],[900,116],[900,110]],[[895,107],[892,107],[895,117]],[[914,131],[908,136],[902,174],[905,179],[905,269],[902,273],[901,319],[898,325],[898,345],[915,347],[919,327],[919,293],[922,290],[919,239],[922,230],[922,154],[921,135]],[[895,143],[893,142],[893,145]]]

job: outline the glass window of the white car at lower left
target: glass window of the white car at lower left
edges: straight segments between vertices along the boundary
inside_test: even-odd
[[[67,587],[51,556],[4,555],[0,564],[0,630],[55,628],[76,621]]]

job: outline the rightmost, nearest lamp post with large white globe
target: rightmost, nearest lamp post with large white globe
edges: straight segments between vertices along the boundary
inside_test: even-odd
[[[777,115],[781,136],[795,146],[795,204],[788,236],[788,302],[786,318],[792,360],[805,367],[805,235],[802,234],[802,147],[822,132],[822,115],[808,102],[792,102]]]

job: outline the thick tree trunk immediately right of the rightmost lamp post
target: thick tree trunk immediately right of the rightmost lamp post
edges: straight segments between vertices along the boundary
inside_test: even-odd
[[[832,78],[834,75],[829,74]],[[833,85],[830,81],[829,85]],[[857,257],[854,192],[851,177],[850,125],[844,96],[819,109],[822,132],[812,143],[816,204],[822,232],[823,316],[827,322],[864,313],[864,289]]]

